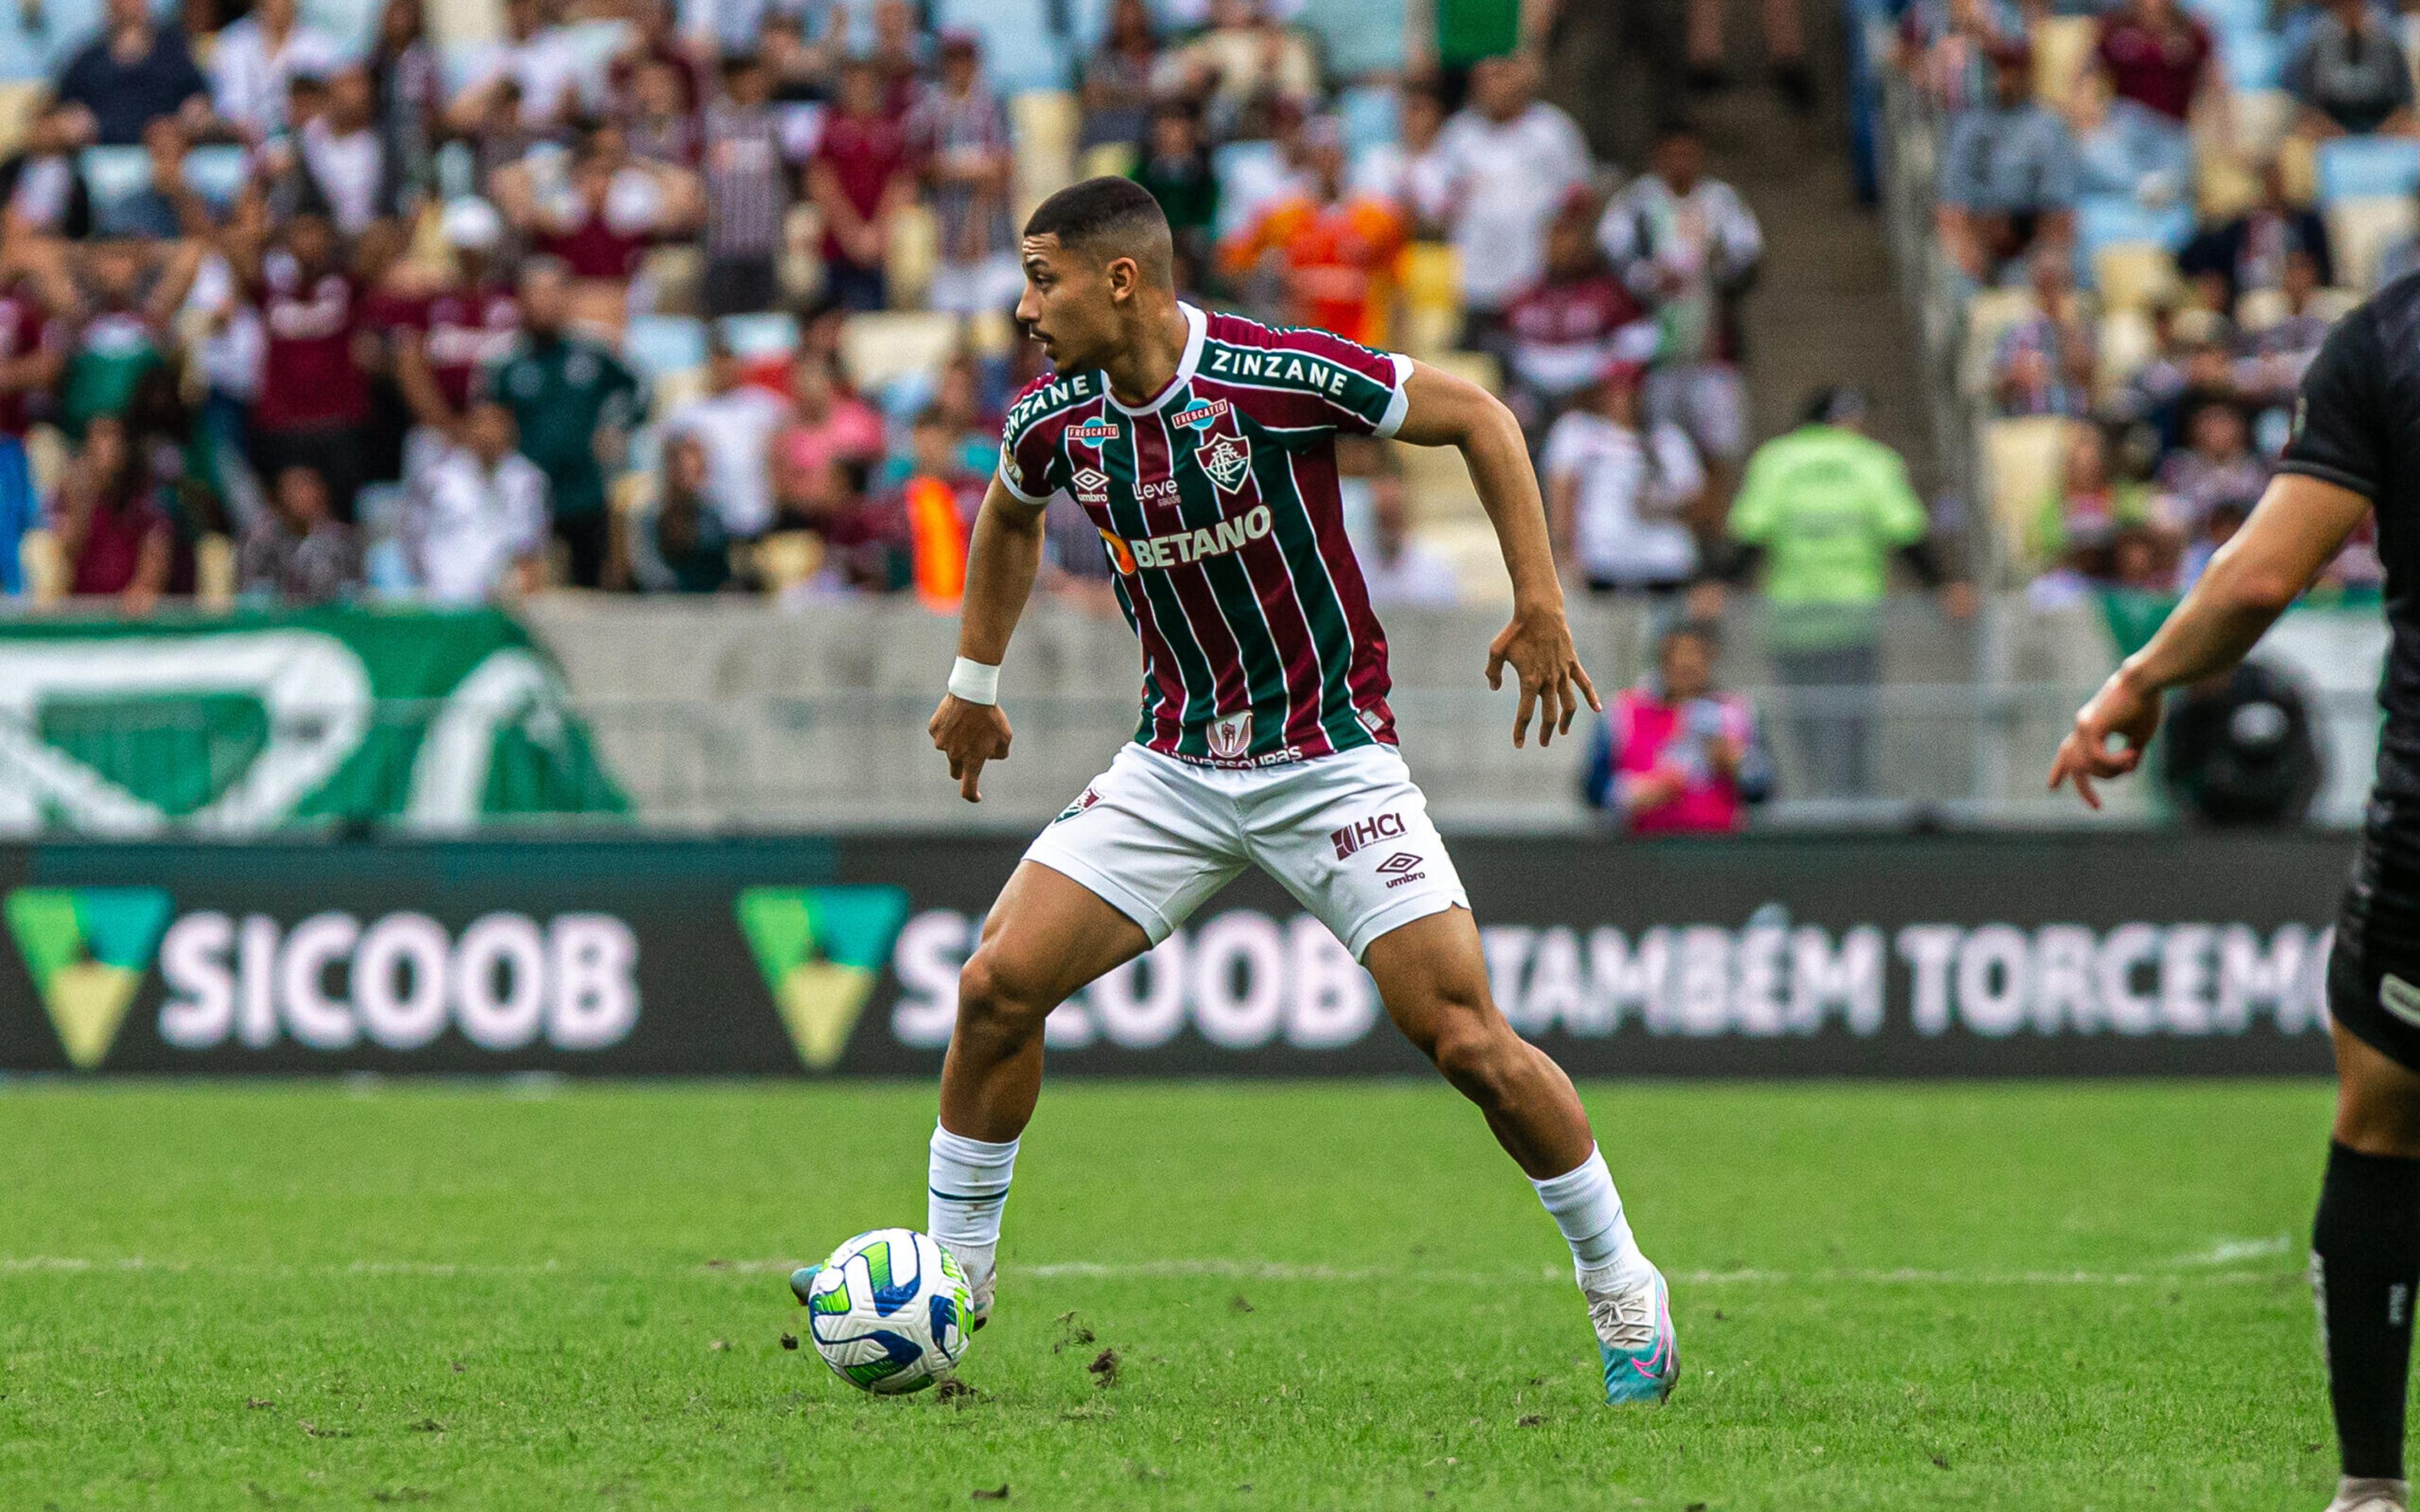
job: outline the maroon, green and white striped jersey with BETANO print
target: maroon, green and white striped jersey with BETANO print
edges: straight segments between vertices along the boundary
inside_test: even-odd
[[[1135,740],[1212,767],[1394,745],[1387,636],[1336,491],[1336,433],[1389,438],[1411,360],[1183,305],[1176,377],[1125,406],[1101,373],[1028,385],[999,481],[1074,496],[1142,641]]]

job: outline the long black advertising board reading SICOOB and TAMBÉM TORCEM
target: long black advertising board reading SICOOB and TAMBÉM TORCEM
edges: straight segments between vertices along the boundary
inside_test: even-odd
[[[2340,835],[1459,839],[1578,1074],[2326,1072]],[[932,1077],[985,837],[0,849],[0,1069]],[[1053,1014],[1053,1074],[1421,1074],[1258,873]]]

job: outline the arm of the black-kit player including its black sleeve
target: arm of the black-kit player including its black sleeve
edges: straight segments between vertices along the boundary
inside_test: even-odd
[[[2386,477],[2393,414],[2384,404],[2386,353],[2367,305],[2335,322],[2294,402],[2294,435],[2253,518],[2168,614],[2151,644],[2125,658],[2050,762],[2050,786],[2074,779],[2101,808],[2096,779],[2125,777],[2159,731],[2171,687],[2231,668],[2343,549]],[[2110,750],[2110,735],[2125,745]]]

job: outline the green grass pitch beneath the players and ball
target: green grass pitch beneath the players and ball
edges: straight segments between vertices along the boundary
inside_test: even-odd
[[[0,1507],[2316,1512],[2321,1084],[1583,1089],[1684,1379],[1597,1403],[1442,1086],[1060,1084],[973,1398],[789,1265],[929,1086],[0,1089]],[[1094,1369],[1116,1352],[1116,1372]]]

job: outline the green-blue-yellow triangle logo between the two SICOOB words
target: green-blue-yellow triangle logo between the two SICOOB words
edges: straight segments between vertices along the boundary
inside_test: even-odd
[[[908,890],[748,888],[736,912],[799,1060],[832,1069],[908,922]]]

